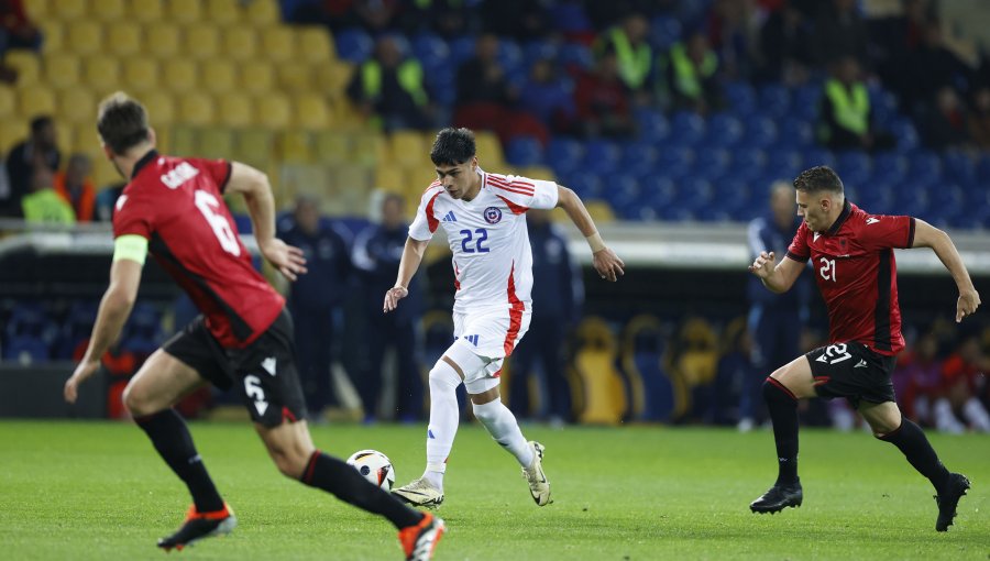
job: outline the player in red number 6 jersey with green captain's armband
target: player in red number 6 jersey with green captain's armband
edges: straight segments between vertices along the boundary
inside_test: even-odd
[[[285,300],[251,265],[222,199],[224,194],[244,197],[262,255],[295,280],[306,273],[305,260],[297,248],[275,238],[267,177],[237,162],[158,154],[144,107],[120,92],[100,105],[97,129],[108,158],[130,183],[113,216],[110,286],[86,355],[65,384],[66,400],[76,400],[78,385],[96,372],[120,334],[148,252],[202,312],[155,351],[124,389],[124,405],[138,426],[193,496],[183,526],[158,540],[158,547],[183,549],[237,525],[173,409],[190,391],[212,383],[237,387],[283,474],[388,518],[399,529],[407,559],[430,559],[443,534],[442,520],[403,505],[314,447]]]

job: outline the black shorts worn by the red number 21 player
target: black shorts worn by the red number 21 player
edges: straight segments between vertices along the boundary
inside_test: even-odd
[[[895,402],[890,373],[897,356],[871,351],[860,343],[835,343],[805,354],[811,363],[818,397],[845,397],[858,408],[860,402]]]

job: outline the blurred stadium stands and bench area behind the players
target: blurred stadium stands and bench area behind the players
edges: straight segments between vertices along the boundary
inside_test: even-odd
[[[312,420],[417,421],[426,367],[451,340],[446,248],[431,248],[398,314],[381,301],[439,128],[473,129],[486,169],[574,189],[605,231],[721,229],[780,253],[799,224],[789,182],[824,164],[871,212],[978,239],[988,38],[990,6],[976,0],[0,2],[0,369],[85,350],[123,187],[94,124],[112,91],[146,105],[163,152],[270,175],[279,233],[310,261],[282,288]],[[810,275],[776,296],[745,265],[647,261],[602,288],[559,218],[529,216],[535,315],[503,391],[521,419],[750,430],[766,422],[761,381],[827,337]],[[110,417],[195,314],[154,267],[105,360]],[[990,431],[990,322],[950,321],[950,280],[901,286],[902,408],[939,430]],[[204,392],[183,408],[231,403]],[[803,406],[810,424],[858,422],[842,403]]]

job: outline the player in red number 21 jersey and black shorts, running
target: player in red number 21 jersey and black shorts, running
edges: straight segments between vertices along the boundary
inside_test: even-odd
[[[870,215],[846,200],[843,182],[825,166],[794,179],[798,216],[804,222],[774,266],[773,253],[761,253],[749,271],[770,290],[791,288],[812,261],[815,280],[828,309],[828,345],[815,349],[777,371],[763,384],[773,421],[779,474],[774,485],[754,501],[755,513],[801,506],[798,477],[798,400],[845,397],[870,425],[873,435],[897,446],[937,493],[935,529],[945,531],[969,480],[950,473],[917,425],[901,415],[890,373],[904,348],[898,306],[893,250],[931,248],[959,288],[956,321],[976,312],[980,295],[949,237],[923,220]]]

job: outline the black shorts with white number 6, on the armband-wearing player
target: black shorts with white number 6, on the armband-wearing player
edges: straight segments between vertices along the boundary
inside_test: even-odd
[[[196,370],[221,389],[238,385],[251,419],[265,427],[306,417],[306,402],[296,373],[293,321],[287,310],[243,349],[224,349],[198,316],[162,350]]]

